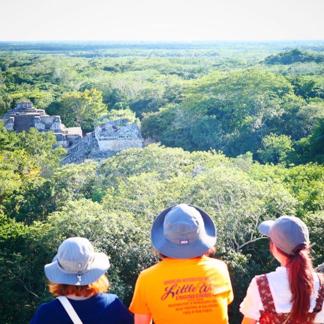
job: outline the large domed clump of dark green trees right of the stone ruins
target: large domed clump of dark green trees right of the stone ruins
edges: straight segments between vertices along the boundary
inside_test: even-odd
[[[296,96],[280,75],[256,69],[214,73],[189,87],[181,103],[146,114],[142,130],[167,146],[212,148],[227,156],[252,152],[258,158],[271,134],[292,141],[308,136],[323,107],[322,101],[308,104]]]

